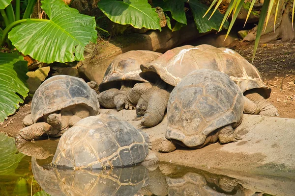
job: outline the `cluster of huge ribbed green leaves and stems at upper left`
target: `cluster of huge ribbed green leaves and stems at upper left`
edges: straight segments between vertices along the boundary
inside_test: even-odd
[[[4,4],[4,2],[6,2]],[[9,0],[1,0],[0,13],[5,29],[0,28],[0,46],[7,43],[24,55],[44,62],[71,62],[84,59],[84,48],[89,42],[96,43],[95,18],[82,15],[62,0],[41,0],[41,8],[49,20],[29,19],[36,0],[29,0],[20,20],[26,0],[16,0],[15,7]],[[6,7],[5,7],[6,6]],[[5,8],[5,9],[4,9]],[[15,12],[14,12],[15,10]],[[17,54],[0,53],[0,122],[13,114],[27,97],[25,86],[27,63]]]

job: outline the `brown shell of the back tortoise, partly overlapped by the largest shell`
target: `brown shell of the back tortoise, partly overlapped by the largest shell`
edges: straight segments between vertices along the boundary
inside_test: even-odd
[[[131,50],[120,54],[114,58],[106,70],[104,78],[99,85],[99,91],[105,91],[110,88],[119,88],[119,81],[135,80],[147,82],[139,76],[140,65],[149,63],[162,54],[149,50]]]

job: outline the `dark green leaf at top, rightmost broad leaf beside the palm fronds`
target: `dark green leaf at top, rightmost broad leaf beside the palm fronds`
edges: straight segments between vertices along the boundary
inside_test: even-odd
[[[213,14],[211,19],[208,21],[209,15],[211,15],[212,10],[210,10],[208,14],[203,18],[208,9],[206,5],[202,4],[199,0],[189,0],[186,2],[189,3],[190,8],[192,9],[194,20],[200,33],[205,33],[212,29],[219,29],[219,26],[222,22],[222,18],[224,16],[218,10]],[[228,26],[229,23],[225,22],[223,28],[228,28]]]

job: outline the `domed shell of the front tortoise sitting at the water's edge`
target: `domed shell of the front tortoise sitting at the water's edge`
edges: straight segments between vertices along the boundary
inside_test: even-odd
[[[142,162],[148,155],[148,136],[114,115],[82,119],[60,138],[55,167],[103,169]]]

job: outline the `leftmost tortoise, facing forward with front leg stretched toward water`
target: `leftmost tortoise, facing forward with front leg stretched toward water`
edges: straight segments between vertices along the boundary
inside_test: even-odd
[[[99,114],[97,93],[81,78],[56,75],[45,80],[35,92],[26,126],[18,132],[16,144],[47,133],[58,137],[79,120]]]

